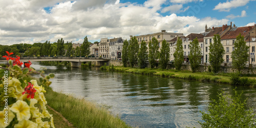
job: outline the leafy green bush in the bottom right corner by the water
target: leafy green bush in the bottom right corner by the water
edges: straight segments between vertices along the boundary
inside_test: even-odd
[[[223,93],[223,92],[222,92]],[[241,100],[241,94],[234,90],[234,97],[218,94],[219,101],[214,100],[208,106],[208,112],[202,112],[199,122],[202,127],[255,127],[253,110],[245,110],[246,100]]]

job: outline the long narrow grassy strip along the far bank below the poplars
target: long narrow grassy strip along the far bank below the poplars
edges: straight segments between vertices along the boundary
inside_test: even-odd
[[[165,69],[139,69],[139,68],[130,68],[130,67],[109,67],[106,66],[101,69],[118,71],[118,72],[127,72],[127,73],[135,73],[135,74],[146,74],[146,75],[156,75],[156,76],[164,76],[164,77],[173,77],[173,78],[181,78],[181,79],[189,79],[189,80],[199,80],[199,81],[209,81],[209,82],[219,82],[219,83],[228,83],[231,84],[230,75],[231,73],[193,73],[191,71],[178,71],[178,70],[165,70]],[[248,84],[246,86],[256,87],[256,77],[242,77],[248,78]]]

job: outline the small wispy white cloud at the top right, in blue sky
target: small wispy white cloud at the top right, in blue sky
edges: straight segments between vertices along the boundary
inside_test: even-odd
[[[229,12],[230,9],[232,8],[237,8],[241,6],[245,6],[246,4],[249,3],[250,0],[231,0],[227,1],[225,3],[219,3],[217,6],[215,6],[214,10],[219,10],[219,11],[226,11]]]

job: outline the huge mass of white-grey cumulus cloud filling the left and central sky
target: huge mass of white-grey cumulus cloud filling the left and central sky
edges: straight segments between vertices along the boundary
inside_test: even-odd
[[[0,1],[0,44],[79,42],[85,36],[89,40],[104,37],[123,37],[160,32],[198,33],[207,26],[227,24],[227,19],[177,16],[182,4],[163,8],[166,0],[149,0],[142,5],[120,3],[114,0],[74,1]],[[182,3],[192,2],[183,1]],[[176,2],[178,3],[178,2]],[[44,10],[50,7],[50,10]],[[163,8],[163,9],[162,9]],[[162,16],[159,12],[173,14]]]

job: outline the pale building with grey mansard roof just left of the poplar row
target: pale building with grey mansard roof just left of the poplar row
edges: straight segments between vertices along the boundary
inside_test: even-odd
[[[124,40],[122,39],[122,37],[110,39],[109,57],[111,59],[120,59],[121,58],[123,41]]]

